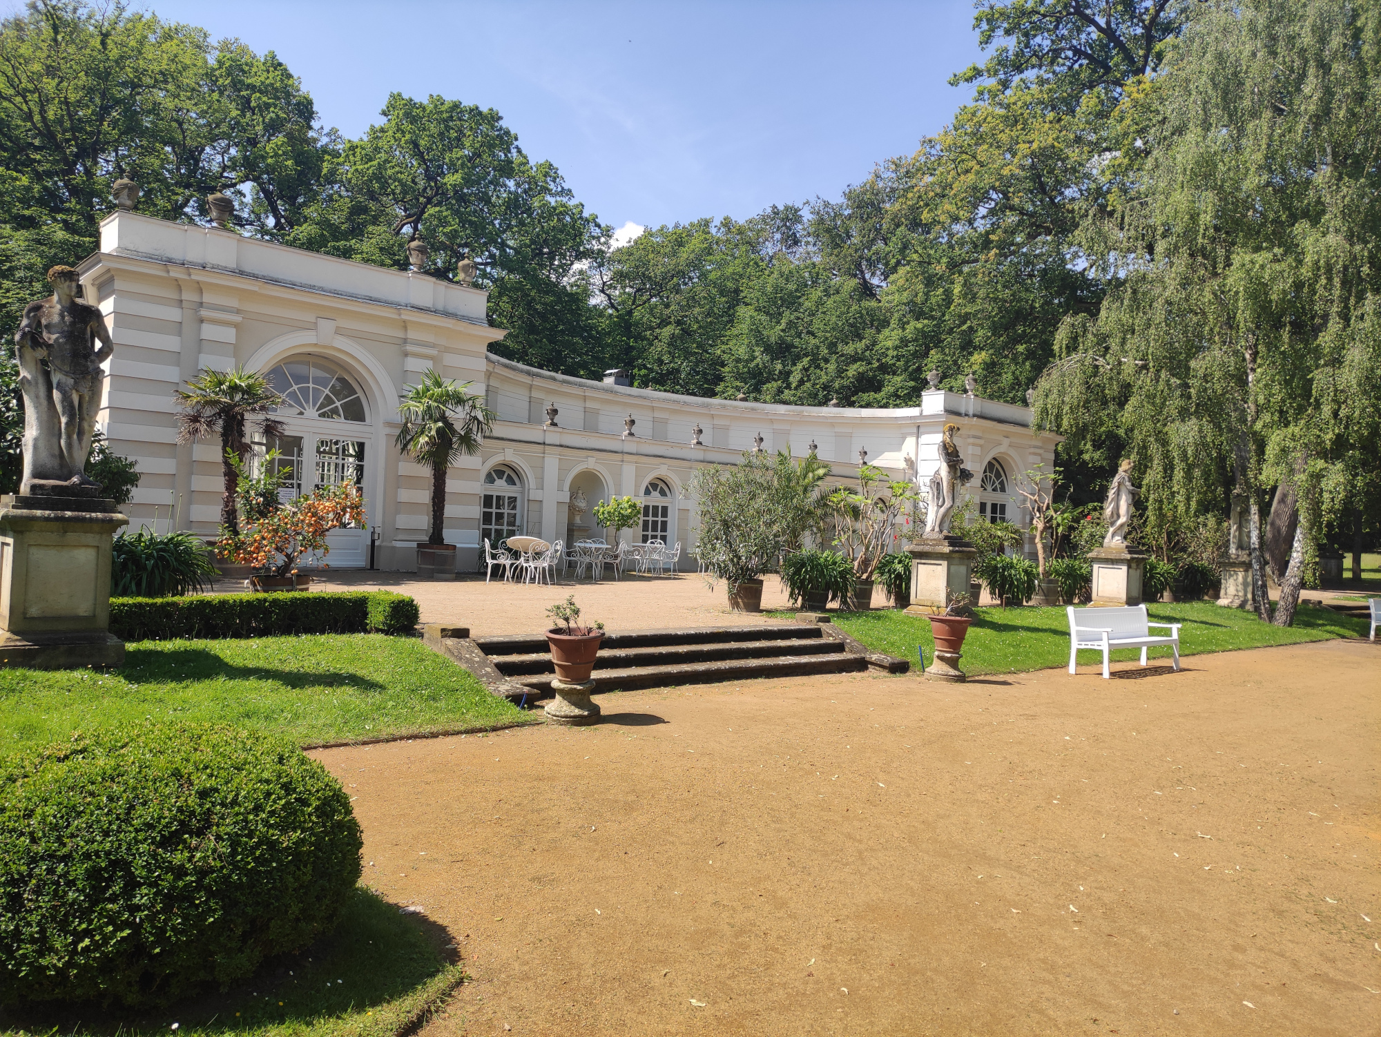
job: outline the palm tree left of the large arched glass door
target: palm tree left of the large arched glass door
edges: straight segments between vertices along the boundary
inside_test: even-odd
[[[221,493],[221,530],[222,534],[238,536],[238,469],[250,453],[250,423],[258,427],[265,439],[283,435],[283,423],[269,417],[283,398],[272,389],[264,374],[243,367],[228,371],[206,367],[188,380],[185,389],[177,389],[174,396],[182,405],[177,414],[180,442],[193,443],[217,434],[221,436],[221,478],[225,486]]]

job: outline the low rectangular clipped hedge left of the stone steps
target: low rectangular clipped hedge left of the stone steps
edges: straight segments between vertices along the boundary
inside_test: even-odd
[[[110,632],[122,641],[255,638],[273,634],[407,634],[417,602],[391,591],[202,594],[112,598]]]

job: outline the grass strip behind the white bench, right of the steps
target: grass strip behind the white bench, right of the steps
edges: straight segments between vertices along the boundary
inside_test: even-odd
[[[1206,601],[1156,603],[1150,605],[1148,612],[1153,621],[1185,624],[1179,631],[1182,656],[1366,637],[1369,628],[1362,619],[1340,616],[1308,605],[1298,608],[1293,627],[1262,623],[1254,613],[1224,609]],[[964,641],[964,659],[960,663],[964,672],[1011,674],[1069,664],[1069,616],[1063,606],[986,608],[975,609],[975,616]],[[841,630],[877,652],[914,661],[920,645],[925,650],[927,664],[934,659],[935,642],[931,639],[931,624],[924,617],[907,616],[899,609],[874,609],[841,612],[834,621]],[[1168,659],[1170,655],[1168,648],[1152,648],[1148,657]],[[1116,649],[1112,653],[1114,661],[1139,657],[1141,650],[1134,648]],[[1081,666],[1092,664],[1095,660],[1101,661],[1102,655],[1080,653]]]

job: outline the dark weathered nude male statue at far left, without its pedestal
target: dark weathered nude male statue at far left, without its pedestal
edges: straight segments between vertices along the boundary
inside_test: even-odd
[[[97,486],[84,469],[105,387],[101,365],[115,352],[101,311],[77,298],[77,272],[54,266],[48,282],[52,295],[25,307],[14,337],[25,407],[25,493],[36,481]]]

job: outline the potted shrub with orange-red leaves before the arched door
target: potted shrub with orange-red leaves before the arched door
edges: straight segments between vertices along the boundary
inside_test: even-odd
[[[319,486],[309,496],[272,508],[240,533],[221,530],[215,543],[222,556],[254,568],[250,585],[255,591],[300,590],[312,581],[298,573],[297,562],[307,554],[327,554],[326,534],[333,529],[365,521],[365,501],[351,483]]]

